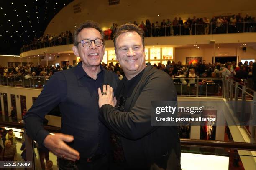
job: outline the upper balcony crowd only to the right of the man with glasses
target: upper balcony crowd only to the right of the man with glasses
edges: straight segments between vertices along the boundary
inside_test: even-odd
[[[242,13],[232,16],[213,16],[211,19],[196,18],[195,16],[191,19],[187,18],[186,21],[179,17],[174,20],[163,19],[161,23],[158,21],[150,22],[149,19],[141,21],[141,24],[137,24],[134,21],[133,24],[139,26],[143,31],[145,37],[155,36],[170,36],[170,35],[200,35],[200,34],[220,34],[220,33],[236,33],[236,32],[255,32],[256,20],[255,17],[251,17],[246,14],[245,17]],[[111,40],[113,39],[114,32],[118,27],[117,23],[113,23],[110,27]]]

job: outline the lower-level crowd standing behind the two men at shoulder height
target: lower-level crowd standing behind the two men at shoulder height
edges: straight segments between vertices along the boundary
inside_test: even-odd
[[[253,80],[252,80],[252,61],[246,61],[245,63],[239,62],[236,65],[235,61],[226,62],[224,64],[221,63],[206,63],[205,60],[202,62],[194,63],[194,64],[182,64],[182,62],[178,61],[177,63],[174,61],[168,61],[166,65],[158,63],[158,65],[154,64],[154,68],[162,70],[169,74],[172,78],[179,78],[180,82],[185,85],[187,83],[195,84],[195,80],[185,80],[184,78],[195,78],[199,77],[234,77],[238,82],[244,83],[246,80],[246,84],[249,88],[253,89]],[[59,65],[55,67],[44,65],[34,66],[33,64],[27,66],[18,66],[18,67],[1,67],[0,66],[0,75],[4,75],[6,77],[10,77],[13,75],[16,76],[25,76],[25,78],[31,78],[33,76],[39,76],[41,78],[48,79],[50,78],[54,72],[71,69],[73,66],[69,65],[69,62],[66,62],[66,65],[60,67]],[[110,70],[115,72],[120,79],[124,76],[123,70],[120,67],[119,63],[115,65],[113,62],[109,64],[105,64],[102,62],[102,67],[106,70]],[[203,81],[204,82],[204,81]]]

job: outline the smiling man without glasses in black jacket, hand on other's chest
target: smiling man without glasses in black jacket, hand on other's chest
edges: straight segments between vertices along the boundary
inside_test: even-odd
[[[151,101],[177,101],[171,77],[145,64],[143,30],[121,25],[114,36],[116,59],[125,77],[99,93],[100,120],[113,131],[116,170],[180,169],[177,127],[151,126]],[[117,103],[117,105],[116,105]],[[115,107],[116,106],[116,107]]]

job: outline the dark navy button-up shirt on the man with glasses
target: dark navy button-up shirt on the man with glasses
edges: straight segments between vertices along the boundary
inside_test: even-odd
[[[68,145],[79,151],[81,158],[108,154],[110,135],[98,119],[97,89],[109,84],[115,90],[118,78],[113,72],[100,67],[96,80],[86,74],[82,62],[73,69],[54,73],[24,117],[27,134],[42,145],[44,138],[49,135],[43,129],[42,120],[59,105],[61,133],[74,136],[74,141]]]

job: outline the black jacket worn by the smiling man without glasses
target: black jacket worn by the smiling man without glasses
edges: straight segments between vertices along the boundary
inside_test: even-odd
[[[117,94],[122,86],[120,81]],[[149,169],[153,163],[166,169],[168,157],[175,157],[173,163],[180,162],[177,127],[151,126],[151,101],[154,100],[177,101],[177,94],[171,77],[149,64],[127,98],[124,112],[108,104],[100,108],[100,120],[121,136],[125,159],[133,170]]]

